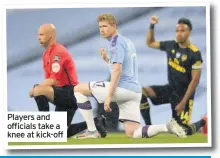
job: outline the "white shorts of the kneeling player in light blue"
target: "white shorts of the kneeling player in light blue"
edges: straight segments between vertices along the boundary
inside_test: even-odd
[[[108,96],[110,82],[91,81],[89,88],[99,103],[104,103]],[[116,102],[119,107],[119,121],[133,121],[140,123],[140,102],[141,93],[136,93],[124,88],[117,87],[112,97],[112,102]]]

